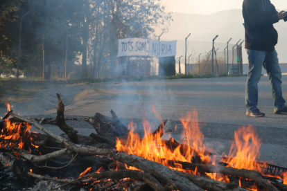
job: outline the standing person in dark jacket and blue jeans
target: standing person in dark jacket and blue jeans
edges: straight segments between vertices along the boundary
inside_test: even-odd
[[[244,0],[243,18],[245,23],[245,48],[248,54],[249,72],[247,75],[245,104],[246,116],[264,117],[257,108],[258,87],[262,66],[266,69],[271,83],[272,97],[275,100],[275,114],[287,113],[281,91],[281,69],[275,45],[278,33],[273,24],[284,19],[287,12],[277,12],[270,0]]]

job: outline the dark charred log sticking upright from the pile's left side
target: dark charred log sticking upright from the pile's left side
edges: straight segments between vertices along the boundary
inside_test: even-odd
[[[66,121],[64,120],[64,104],[61,100],[61,96],[57,93],[58,96],[58,106],[57,106],[57,118],[56,122],[58,127],[64,131],[65,134],[69,137],[72,143],[79,143],[78,138],[78,131],[74,130],[72,127],[67,125]]]

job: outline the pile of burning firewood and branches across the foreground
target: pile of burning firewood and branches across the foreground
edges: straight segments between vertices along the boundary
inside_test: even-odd
[[[195,170],[195,175],[172,170],[139,156],[118,152],[115,148],[116,138],[126,139],[129,129],[122,124],[114,111],[111,111],[112,120],[100,113],[96,113],[94,118],[85,118],[98,134],[81,136],[65,122],[67,118],[64,118],[64,104],[60,95],[57,94],[57,96],[58,115],[55,120],[51,118],[28,120],[9,111],[0,122],[0,161],[15,174],[19,181],[23,182],[26,188],[91,191],[247,190],[239,187],[238,179],[241,179],[256,183],[258,190],[287,190],[287,185],[284,185],[280,179],[265,177],[257,171],[225,167],[224,163],[201,164],[196,156],[193,163],[168,161],[171,166],[180,163],[185,170]],[[22,124],[20,139],[14,140],[7,137],[8,131],[6,132],[5,127],[8,120],[14,124]],[[56,124],[65,134],[59,136],[40,123]],[[166,121],[148,136],[163,135],[165,124]],[[29,125],[33,125],[45,134],[36,132],[28,134]],[[175,149],[180,143],[171,138],[166,140],[166,145]],[[184,146],[187,147],[187,145]],[[205,154],[212,155],[209,152]],[[134,170],[129,170],[130,167],[134,167]],[[232,181],[230,183],[216,181],[210,179],[206,173],[224,174]]]

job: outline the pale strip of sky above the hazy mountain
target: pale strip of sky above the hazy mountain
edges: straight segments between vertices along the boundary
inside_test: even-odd
[[[162,0],[166,11],[209,15],[220,10],[241,9],[243,0]],[[271,0],[277,10],[287,11],[287,0]]]

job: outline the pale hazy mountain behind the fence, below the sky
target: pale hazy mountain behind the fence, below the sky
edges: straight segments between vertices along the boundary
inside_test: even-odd
[[[211,15],[199,15],[199,14],[184,14],[179,12],[172,13],[171,26],[168,27],[168,33],[164,33],[161,39],[164,40],[182,40],[191,33],[189,40],[191,41],[202,41],[208,46],[205,48],[206,52],[211,49],[211,41],[216,36],[219,35],[216,42],[218,43],[218,48],[221,51],[225,48],[226,42],[232,37],[231,44],[236,44],[239,39],[244,39],[244,27],[243,27],[243,16],[242,10],[224,10],[216,12]],[[287,62],[286,44],[287,44],[287,22],[279,21],[275,24],[275,28],[279,33],[279,43],[276,46],[277,52],[279,54],[279,62]],[[156,34],[160,35],[161,30],[157,30]],[[206,43],[210,42],[210,44]],[[223,43],[220,45],[220,43]],[[182,55],[184,50],[184,44],[180,42],[180,48],[178,55]],[[177,46],[178,47],[178,46]],[[243,46],[244,47],[244,46]],[[196,50],[196,47],[193,47]],[[201,50],[196,53],[201,53]],[[193,52],[194,52],[193,50]],[[247,63],[247,54],[243,52],[243,63]]]

